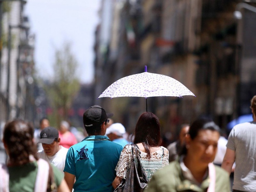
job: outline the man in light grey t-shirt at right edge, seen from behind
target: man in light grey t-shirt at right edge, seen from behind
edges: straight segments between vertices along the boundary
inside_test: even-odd
[[[252,97],[252,122],[237,124],[228,136],[227,150],[221,167],[229,174],[234,162],[234,192],[256,191],[256,95]]]

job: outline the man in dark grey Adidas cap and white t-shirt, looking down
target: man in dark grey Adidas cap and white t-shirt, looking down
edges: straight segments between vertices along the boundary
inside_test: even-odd
[[[38,143],[42,143],[44,150],[38,151],[37,156],[63,171],[68,149],[60,145],[58,130],[54,127],[44,128]]]

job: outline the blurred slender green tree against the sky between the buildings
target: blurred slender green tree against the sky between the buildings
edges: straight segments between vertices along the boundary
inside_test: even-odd
[[[76,77],[77,60],[71,53],[70,44],[64,43],[60,50],[55,50],[55,61],[53,64],[53,82],[45,87],[51,107],[56,115],[59,125],[61,120],[68,120],[68,110],[80,89],[79,80]]]

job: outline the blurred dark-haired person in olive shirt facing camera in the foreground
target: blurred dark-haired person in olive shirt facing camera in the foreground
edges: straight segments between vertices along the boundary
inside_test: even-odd
[[[212,161],[220,128],[210,119],[197,119],[189,127],[180,158],[157,171],[145,192],[230,192],[228,173]]]

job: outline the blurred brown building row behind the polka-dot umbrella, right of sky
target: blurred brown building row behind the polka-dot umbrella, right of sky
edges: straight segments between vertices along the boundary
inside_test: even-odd
[[[148,72],[171,76],[196,95],[148,98],[148,111],[159,117],[163,132],[175,137],[180,124],[198,116],[212,117],[225,130],[232,119],[251,113],[256,94],[255,3],[103,0],[95,33],[94,98],[147,65]],[[236,10],[241,18],[234,17]],[[99,98],[97,103],[130,132],[145,111],[144,98]]]

